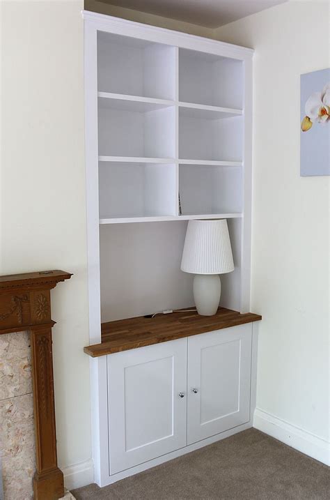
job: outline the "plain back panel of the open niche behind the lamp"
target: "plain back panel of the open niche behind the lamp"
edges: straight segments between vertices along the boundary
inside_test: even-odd
[[[239,310],[241,220],[228,220],[235,271],[221,275],[221,305]],[[100,227],[102,322],[194,308],[194,275],[180,270],[187,221]]]

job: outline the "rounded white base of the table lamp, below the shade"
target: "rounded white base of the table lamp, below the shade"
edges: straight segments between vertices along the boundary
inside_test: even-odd
[[[194,276],[194,299],[198,315],[215,315],[219,308],[220,297],[219,274],[196,274]]]

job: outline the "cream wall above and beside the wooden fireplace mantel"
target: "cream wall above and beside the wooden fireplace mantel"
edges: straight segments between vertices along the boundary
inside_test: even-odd
[[[83,1],[1,5],[0,273],[61,268],[52,291],[60,467],[91,457]]]

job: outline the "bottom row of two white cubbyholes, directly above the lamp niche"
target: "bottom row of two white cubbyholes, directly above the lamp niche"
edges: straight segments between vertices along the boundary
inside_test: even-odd
[[[135,160],[100,162],[100,223],[242,215],[240,165]]]

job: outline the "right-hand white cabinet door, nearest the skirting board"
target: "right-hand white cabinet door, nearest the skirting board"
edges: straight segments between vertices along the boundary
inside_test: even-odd
[[[188,444],[250,419],[251,325],[188,339]]]

